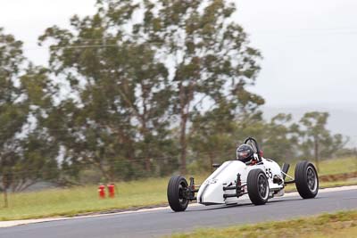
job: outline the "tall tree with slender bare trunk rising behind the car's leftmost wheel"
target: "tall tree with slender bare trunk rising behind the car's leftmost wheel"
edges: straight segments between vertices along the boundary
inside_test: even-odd
[[[230,16],[234,4],[210,1],[100,1],[112,25],[125,15],[134,21],[128,36],[152,44],[170,71],[173,115],[179,120],[180,170],[186,173],[187,129],[197,104],[219,104],[246,93],[260,67],[260,53]],[[131,11],[129,12],[128,9]],[[142,16],[138,17],[140,12]],[[142,19],[142,21],[137,21]]]

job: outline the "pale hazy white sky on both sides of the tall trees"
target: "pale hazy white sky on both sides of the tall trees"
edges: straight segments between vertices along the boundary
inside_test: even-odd
[[[37,37],[54,24],[68,27],[95,0],[0,0],[0,27],[25,42],[31,61],[45,64]],[[235,18],[262,51],[252,88],[268,106],[340,103],[357,108],[357,1],[237,0]]]

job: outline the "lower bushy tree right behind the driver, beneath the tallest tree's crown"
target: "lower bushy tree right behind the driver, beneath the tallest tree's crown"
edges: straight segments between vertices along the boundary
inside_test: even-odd
[[[246,91],[245,94],[240,91],[236,96],[222,98],[210,111],[192,114],[189,148],[196,153],[196,160],[201,161],[200,168],[208,170],[207,166],[212,168],[215,161],[235,158],[237,144],[248,136],[261,135],[262,112],[258,108],[264,101]],[[251,129],[254,132],[248,133]],[[209,158],[209,163],[203,160],[206,158]]]

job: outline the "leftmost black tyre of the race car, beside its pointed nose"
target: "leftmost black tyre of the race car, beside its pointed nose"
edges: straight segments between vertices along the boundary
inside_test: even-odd
[[[184,191],[188,187],[187,180],[183,176],[172,176],[168,185],[168,201],[174,211],[187,209],[188,200],[184,197]]]

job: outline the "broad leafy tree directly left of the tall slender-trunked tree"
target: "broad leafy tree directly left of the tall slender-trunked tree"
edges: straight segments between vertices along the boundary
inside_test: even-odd
[[[118,173],[126,178],[150,175],[155,158],[170,156],[173,147],[165,119],[171,94],[168,72],[150,45],[111,29],[107,16],[98,11],[71,18],[73,29],[54,26],[40,37],[41,42],[56,42],[51,45],[51,71],[76,95],[49,109],[46,127],[65,148],[67,164],[91,163],[106,180]],[[126,14],[117,17],[124,20]],[[91,44],[98,39],[108,45]]]

